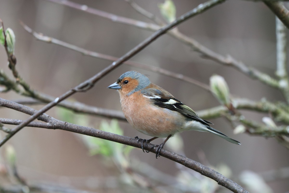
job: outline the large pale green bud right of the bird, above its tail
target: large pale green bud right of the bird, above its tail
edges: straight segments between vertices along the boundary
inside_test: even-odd
[[[213,75],[210,78],[211,91],[218,99],[218,101],[226,106],[229,106],[230,93],[227,82],[222,76]]]

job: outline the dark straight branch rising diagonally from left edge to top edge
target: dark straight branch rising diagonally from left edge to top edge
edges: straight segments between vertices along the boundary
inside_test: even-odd
[[[6,135],[1,141],[0,141],[0,147],[5,144],[6,141],[8,141],[13,135],[15,135],[19,130],[21,130],[23,127],[25,127],[29,122],[32,122],[35,120],[39,115],[42,113],[48,111],[53,106],[60,103],[62,100],[65,100],[69,96],[73,95],[76,92],[79,91],[87,91],[88,89],[91,89],[93,85],[100,80],[103,76],[105,76],[107,73],[121,65],[123,62],[131,58],[132,56],[136,55],[138,52],[140,52],[142,49],[144,49],[147,45],[155,41],[159,36],[165,34],[168,30],[172,29],[176,25],[179,25],[180,23],[186,21],[187,19],[191,18],[192,16],[195,16],[197,14],[200,14],[204,12],[205,10],[214,7],[215,5],[218,5],[220,3],[223,3],[225,0],[210,0],[206,3],[203,3],[202,6],[198,6],[197,8],[194,8],[193,10],[190,10],[189,12],[181,15],[179,18],[177,18],[172,23],[162,27],[157,32],[153,33],[151,36],[149,36],[147,39],[145,39],[142,43],[138,44],[136,47],[131,49],[129,52],[127,52],[125,55],[123,55],[121,58],[113,62],[111,65],[97,73],[95,76],[89,78],[88,80],[82,82],[78,86],[74,87],[73,89],[70,89],[60,97],[56,98],[53,102],[50,102],[46,106],[44,106],[42,109],[40,109],[37,113],[29,117],[27,120],[22,122],[20,125],[16,126],[12,129],[12,132]]]

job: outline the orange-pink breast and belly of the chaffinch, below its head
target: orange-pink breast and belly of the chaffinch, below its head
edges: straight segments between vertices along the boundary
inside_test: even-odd
[[[183,127],[180,113],[152,104],[141,93],[121,96],[121,106],[129,124],[146,135],[168,137]]]

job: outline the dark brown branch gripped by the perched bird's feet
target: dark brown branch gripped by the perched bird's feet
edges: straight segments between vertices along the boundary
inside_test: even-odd
[[[0,98],[0,105],[1,106],[7,106],[11,109],[14,109],[16,111],[20,111],[23,113],[27,113],[27,114],[38,112],[38,111],[36,111],[32,108],[29,108],[27,106],[17,104],[17,103],[14,103],[14,102],[11,102],[8,100],[4,100],[1,98]],[[40,119],[45,120],[45,122],[51,123],[53,125],[53,126],[51,126],[53,129],[71,131],[74,133],[80,133],[83,135],[98,137],[101,139],[106,139],[106,140],[118,142],[121,144],[133,146],[133,147],[142,148],[141,143],[138,143],[138,139],[135,139],[135,138],[130,138],[130,137],[121,136],[121,135],[105,132],[105,131],[94,129],[94,128],[89,128],[89,127],[84,127],[84,126],[79,126],[76,124],[63,122],[63,121],[57,120],[57,119],[55,119],[51,116],[45,115],[45,114],[41,115]],[[2,120],[2,121],[5,121],[5,120]],[[25,122],[25,121],[23,121],[23,122]],[[153,148],[153,144],[150,144],[150,143],[147,144],[147,146],[144,146],[143,148],[145,150],[151,151],[153,153],[155,153],[155,151],[156,151],[156,148]],[[228,188],[229,190],[231,190],[233,192],[247,193],[247,191],[244,190],[237,183],[231,181],[230,179],[226,178],[225,176],[216,172],[215,170],[212,170],[206,166],[203,166],[199,162],[196,162],[196,161],[191,160],[187,157],[178,155],[178,154],[171,152],[169,150],[166,150],[166,149],[162,149],[160,152],[160,155],[163,157],[166,157],[168,159],[171,159],[177,163],[180,163],[180,164],[182,164],[182,165],[184,165],[184,166],[186,166],[192,170],[195,170],[195,171],[201,173],[202,175],[204,175],[206,177],[209,177],[209,178],[217,181],[218,184],[224,186],[225,188]]]

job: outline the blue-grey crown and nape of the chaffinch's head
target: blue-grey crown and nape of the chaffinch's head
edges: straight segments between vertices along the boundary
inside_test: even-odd
[[[149,81],[149,78],[147,78],[145,75],[143,75],[137,71],[125,72],[119,77],[118,80],[122,80],[125,77],[130,77],[130,78],[138,80],[138,86],[133,91],[128,93],[127,95],[131,95],[132,93],[137,92],[141,89],[144,89],[145,87],[149,86],[149,84],[151,84],[151,81]]]

